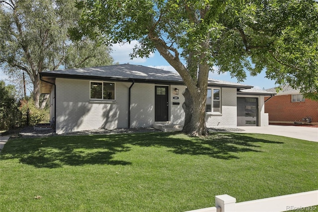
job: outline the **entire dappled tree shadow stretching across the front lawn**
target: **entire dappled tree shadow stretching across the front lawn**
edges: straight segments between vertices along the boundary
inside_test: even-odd
[[[257,139],[237,133],[214,133],[208,137],[187,137],[180,133],[135,133],[115,135],[54,136],[48,138],[16,139],[8,142],[1,159],[37,168],[59,168],[64,165],[85,164],[131,165],[114,160],[114,155],[130,151],[129,145],[166,147],[175,154],[206,155],[217,159],[239,159],[239,152],[262,152],[258,143],[282,142]]]

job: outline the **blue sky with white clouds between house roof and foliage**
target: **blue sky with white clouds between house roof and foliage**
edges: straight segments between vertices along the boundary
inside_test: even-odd
[[[130,59],[129,53],[132,52],[133,47],[135,46],[136,42],[132,42],[131,44],[114,44],[112,49],[112,57],[114,58],[115,62],[119,64],[130,63],[136,65],[143,65],[143,66],[150,66],[154,68],[159,68],[167,71],[175,71],[169,64],[166,62],[163,57],[159,54],[159,52],[155,52],[154,54],[150,55],[149,58],[135,58],[133,60]],[[275,81],[269,80],[265,78],[265,72],[260,73],[256,77],[251,77],[247,73],[247,78],[245,81],[240,82],[241,84],[253,86],[256,89],[269,89],[274,88]],[[210,73],[209,78],[218,79],[218,80],[225,80],[229,82],[237,83],[238,80],[236,78],[231,78],[230,73],[224,74],[217,74],[217,73]]]

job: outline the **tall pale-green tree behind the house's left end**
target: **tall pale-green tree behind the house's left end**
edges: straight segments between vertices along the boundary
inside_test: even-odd
[[[40,105],[39,72],[112,64],[108,47],[69,39],[79,17],[73,0],[0,0],[0,6],[0,65],[8,75],[28,75],[35,106],[46,102]]]

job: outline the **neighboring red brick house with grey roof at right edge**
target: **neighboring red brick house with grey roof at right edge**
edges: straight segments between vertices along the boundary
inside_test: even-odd
[[[269,123],[303,123],[318,125],[318,101],[303,98],[298,90],[284,86],[273,97],[265,97]],[[266,91],[275,92],[275,88]]]

